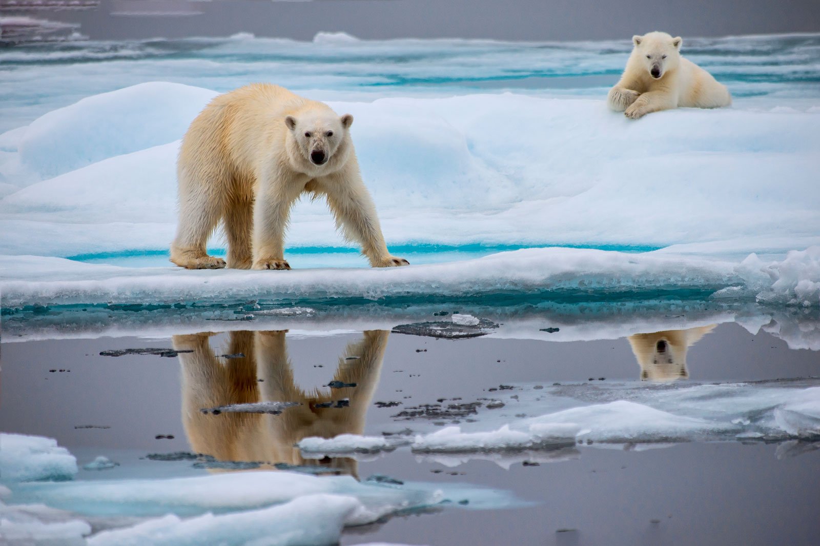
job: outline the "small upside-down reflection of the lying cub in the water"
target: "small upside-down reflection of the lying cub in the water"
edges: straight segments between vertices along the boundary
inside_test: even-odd
[[[632,353],[635,353],[640,364],[640,379],[674,381],[688,378],[686,351],[714,327],[712,324],[689,330],[666,330],[629,336]]]

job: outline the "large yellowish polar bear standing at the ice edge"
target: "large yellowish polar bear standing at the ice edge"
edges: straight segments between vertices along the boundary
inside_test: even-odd
[[[219,269],[205,244],[224,221],[229,267],[290,269],[285,228],[303,192],[324,196],[346,239],[371,266],[406,266],[391,256],[376,207],[359,174],[349,129],[353,116],[271,84],[216,97],[191,123],[177,162],[180,222],[171,262]]]

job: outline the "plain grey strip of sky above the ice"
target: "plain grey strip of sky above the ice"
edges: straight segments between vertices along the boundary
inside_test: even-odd
[[[139,11],[191,15],[111,15]],[[94,11],[32,15],[79,22],[80,32],[92,39],[225,36],[242,31],[311,39],[321,30],[341,30],[363,39],[508,40],[629,39],[651,30],[682,36],[820,31],[818,0],[103,0]]]

